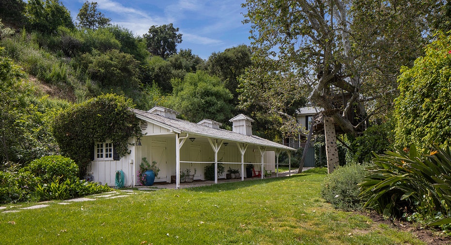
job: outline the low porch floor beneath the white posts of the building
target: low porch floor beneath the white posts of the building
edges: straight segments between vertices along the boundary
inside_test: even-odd
[[[310,168],[303,168],[303,170],[307,170]],[[297,168],[296,169],[291,169],[291,174],[297,174]],[[290,175],[290,171],[285,171],[285,172],[280,172],[279,173],[279,177],[278,178],[283,178],[286,176]],[[276,174],[273,173],[270,177],[264,177],[265,179],[269,179],[269,178],[277,178]],[[260,178],[244,178],[244,181],[251,181],[251,180],[259,180]],[[240,179],[233,179],[233,180],[226,180],[226,179],[219,179],[218,180],[218,184],[222,184],[222,183],[229,183],[229,182],[238,182],[241,181]],[[180,188],[190,188],[190,187],[198,187],[198,186],[206,186],[206,185],[213,185],[215,184],[215,181],[194,181],[194,182],[185,182],[185,183],[180,183]],[[156,189],[175,189],[175,184],[166,184],[166,183],[155,183],[152,186],[137,186],[138,190],[142,190],[142,191],[148,191],[148,190],[156,190]]]

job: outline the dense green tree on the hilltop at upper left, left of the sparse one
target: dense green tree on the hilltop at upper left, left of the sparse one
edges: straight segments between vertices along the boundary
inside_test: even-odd
[[[69,10],[59,0],[29,0],[25,16],[29,28],[42,33],[56,32],[60,26],[75,28]]]

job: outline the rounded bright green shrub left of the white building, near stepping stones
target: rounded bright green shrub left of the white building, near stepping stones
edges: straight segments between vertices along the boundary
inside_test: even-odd
[[[43,183],[50,183],[54,177],[65,180],[77,177],[78,174],[78,166],[74,160],[61,155],[43,156],[33,160],[28,169],[40,177]]]

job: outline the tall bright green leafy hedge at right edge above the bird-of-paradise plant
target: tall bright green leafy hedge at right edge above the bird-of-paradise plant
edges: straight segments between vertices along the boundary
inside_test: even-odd
[[[420,148],[430,141],[451,143],[451,35],[438,34],[425,47],[426,54],[412,68],[403,66],[398,78],[400,96],[395,100],[396,143],[415,143]]]

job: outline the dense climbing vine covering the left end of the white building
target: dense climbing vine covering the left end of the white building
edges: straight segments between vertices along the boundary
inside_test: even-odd
[[[139,120],[129,110],[130,99],[103,94],[63,110],[56,118],[54,136],[63,155],[73,159],[83,176],[93,159],[94,143],[110,140],[118,157],[128,151],[128,139],[140,136]]]

